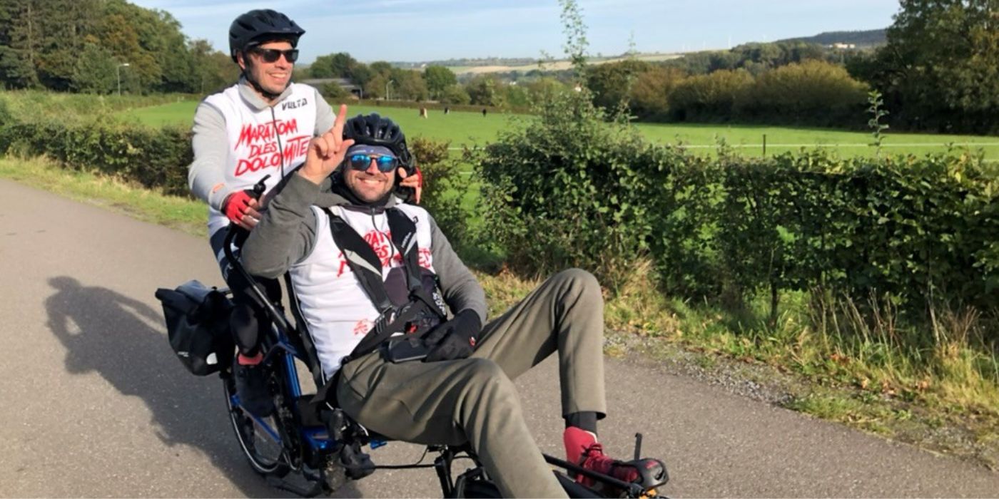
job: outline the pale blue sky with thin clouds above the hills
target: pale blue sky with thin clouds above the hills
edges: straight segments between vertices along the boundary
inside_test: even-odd
[[[557,0],[131,0],[165,10],[191,39],[228,52],[229,24],[252,9],[284,12],[306,30],[303,63],[355,59],[562,58]],[[590,55],[725,49],[823,31],[885,28],[898,0],[577,0]]]

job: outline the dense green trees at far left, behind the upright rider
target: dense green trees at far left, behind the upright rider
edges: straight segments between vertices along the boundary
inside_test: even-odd
[[[125,0],[0,0],[0,86],[205,93],[238,69],[170,13]]]

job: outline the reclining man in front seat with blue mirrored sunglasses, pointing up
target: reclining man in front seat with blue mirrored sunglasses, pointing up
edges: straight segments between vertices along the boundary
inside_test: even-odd
[[[624,481],[640,481],[638,469],[664,476],[661,462],[611,459],[596,442],[606,412],[596,279],[559,272],[487,323],[482,286],[431,214],[392,196],[399,166],[412,162],[397,125],[341,113],[243,248],[251,272],[291,275],[335,390],[328,402],[390,438],[470,443],[503,497],[564,497],[511,381],[557,352],[568,460]]]

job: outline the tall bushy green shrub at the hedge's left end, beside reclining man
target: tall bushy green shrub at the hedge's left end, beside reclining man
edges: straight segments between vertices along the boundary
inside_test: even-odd
[[[605,123],[588,92],[555,94],[475,155],[486,232],[526,273],[591,270],[614,289],[646,253],[647,196],[637,171],[658,150],[625,126]]]

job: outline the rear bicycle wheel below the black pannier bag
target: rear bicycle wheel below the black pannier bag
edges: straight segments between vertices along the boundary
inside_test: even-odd
[[[236,380],[228,376],[223,378],[222,382],[225,387],[229,420],[233,423],[233,431],[240,441],[243,454],[250,461],[250,466],[262,475],[286,475],[291,468],[284,458],[277,416],[261,418],[258,422],[241,407],[233,404]]]

